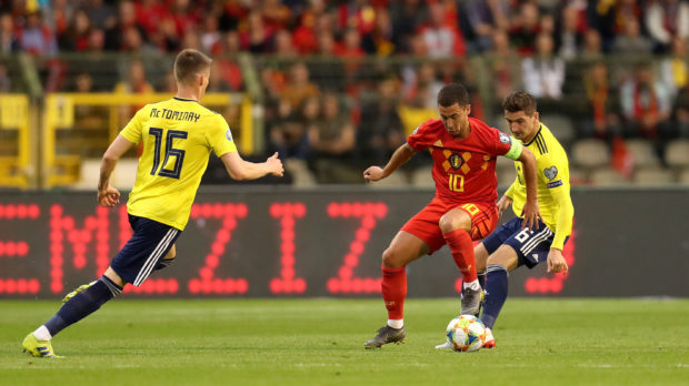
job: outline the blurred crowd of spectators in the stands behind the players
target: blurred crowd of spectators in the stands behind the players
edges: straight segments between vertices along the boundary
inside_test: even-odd
[[[210,90],[238,91],[248,77],[238,58],[250,53],[266,108],[267,151],[279,151],[293,161],[296,175],[308,170],[318,182],[359,182],[360,163],[385,162],[416,125],[435,116],[436,93],[450,81],[467,84],[475,116],[496,125],[500,100],[526,89],[539,98],[545,122],[551,113],[571,124],[565,141],[592,138],[613,150],[617,139],[645,139],[663,160],[669,142],[689,138],[685,0],[1,4],[6,54],[196,48],[218,58]],[[52,63],[49,91],[174,91],[171,72],[152,75],[156,64],[141,61],[128,64],[124,80],[103,87],[89,71],[61,77],[60,61]],[[0,65],[0,91],[11,88],[7,72]]]

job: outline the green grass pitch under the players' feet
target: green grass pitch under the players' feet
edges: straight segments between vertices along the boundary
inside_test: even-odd
[[[687,385],[689,299],[510,299],[497,348],[436,351],[459,306],[410,299],[407,344],[365,351],[380,299],[117,299],[21,353],[57,302],[0,302],[2,385]]]

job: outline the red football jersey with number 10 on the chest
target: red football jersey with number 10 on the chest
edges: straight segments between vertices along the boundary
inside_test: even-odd
[[[496,203],[496,158],[511,148],[509,135],[469,118],[471,133],[456,140],[441,120],[428,120],[409,135],[416,151],[428,149],[433,158],[436,196],[450,203]]]

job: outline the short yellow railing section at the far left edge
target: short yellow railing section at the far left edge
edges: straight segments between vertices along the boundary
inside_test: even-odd
[[[0,186],[29,187],[34,170],[30,164],[29,96],[24,94],[0,95],[0,130],[17,131],[13,140],[2,141],[0,153]],[[4,153],[4,154],[3,154]]]

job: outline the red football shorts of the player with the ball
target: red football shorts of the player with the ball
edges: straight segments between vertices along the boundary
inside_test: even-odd
[[[426,205],[419,213],[402,226],[402,231],[421,238],[430,246],[430,253],[440,250],[445,245],[442,231],[440,231],[440,217],[451,209],[459,209],[471,216],[471,240],[481,240],[488,236],[498,225],[498,206],[496,204],[457,204],[445,203],[438,197]]]

